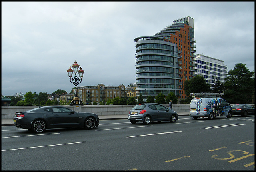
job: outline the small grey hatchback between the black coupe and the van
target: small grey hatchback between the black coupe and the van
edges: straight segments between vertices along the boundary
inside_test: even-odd
[[[130,110],[128,120],[132,124],[135,124],[137,121],[142,121],[144,124],[150,124],[151,121],[176,122],[178,114],[162,104],[144,103],[137,104]]]

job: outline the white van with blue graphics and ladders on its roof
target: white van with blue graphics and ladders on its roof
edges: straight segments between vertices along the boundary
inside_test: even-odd
[[[210,120],[216,116],[231,118],[232,108],[223,98],[193,98],[190,102],[189,116],[194,119],[208,117]]]

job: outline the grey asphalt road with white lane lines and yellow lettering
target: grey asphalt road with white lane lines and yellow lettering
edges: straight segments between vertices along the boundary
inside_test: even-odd
[[[2,170],[254,170],[254,116],[180,116],[42,134],[2,126]]]

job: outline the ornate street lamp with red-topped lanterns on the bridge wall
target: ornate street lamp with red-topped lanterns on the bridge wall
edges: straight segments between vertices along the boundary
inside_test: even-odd
[[[79,64],[77,64],[77,62],[75,61],[74,64],[72,65],[73,70],[71,69],[71,66],[69,67],[69,69],[67,70],[68,72],[68,77],[70,79],[70,82],[72,84],[74,84],[75,86],[77,86],[78,84],[80,84],[82,82],[82,78],[84,75],[84,71],[82,70],[82,68],[80,67],[80,70],[78,70],[79,68]],[[73,72],[75,72],[75,76],[74,78],[72,78],[72,74]],[[78,73],[80,79],[76,76],[76,73]],[[72,79],[71,79],[72,78]],[[75,97],[73,98],[72,102],[70,103],[70,105],[84,105],[82,103],[81,100],[79,100],[78,96],[77,96],[77,88],[76,88],[76,94]]]

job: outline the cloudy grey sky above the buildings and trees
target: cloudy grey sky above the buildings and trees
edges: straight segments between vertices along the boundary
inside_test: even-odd
[[[2,95],[136,82],[135,42],[190,16],[196,54],[254,71],[254,2],[2,2]],[[74,76],[74,74],[73,74]]]

